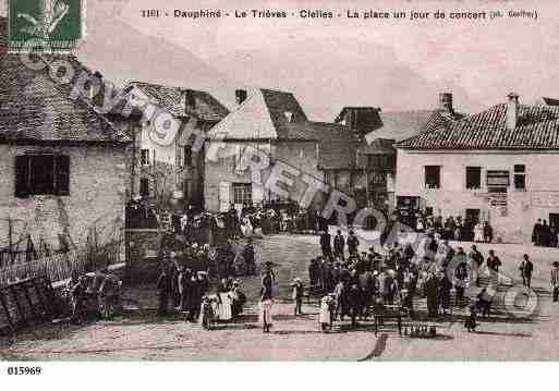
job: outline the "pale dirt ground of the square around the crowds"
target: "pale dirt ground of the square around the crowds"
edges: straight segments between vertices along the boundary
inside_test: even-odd
[[[277,235],[258,241],[263,259],[276,267],[275,325],[264,334],[257,323],[259,278],[241,278],[247,308],[234,323],[203,330],[181,316],[159,318],[154,286],[127,289],[124,296],[138,302],[143,311],[127,313],[112,321],[82,326],[49,325],[26,331],[14,341],[2,341],[0,359],[34,361],[473,361],[558,359],[559,305],[551,303],[549,270],[558,259],[557,249],[520,245],[479,245],[484,255],[495,248],[503,261],[503,272],[518,283],[518,265],[523,253],[535,264],[534,291],[538,295],[535,315],[522,318],[522,308],[503,306],[508,288],[499,290],[500,305],[491,320],[482,321],[476,333],[463,327],[461,310],[439,319],[436,339],[399,337],[387,325],[377,337],[370,322],[352,329],[338,322],[332,333],[318,329],[318,297],[303,306],[303,316],[293,316],[290,283],[295,277],[307,280],[308,259],[318,255],[318,237]],[[471,244],[463,244],[469,249]],[[365,248],[363,248],[364,251]],[[522,302],[522,296],[520,298]],[[510,303],[509,303],[510,304]],[[522,303],[521,303],[522,304]],[[425,309],[418,300],[416,307]]]

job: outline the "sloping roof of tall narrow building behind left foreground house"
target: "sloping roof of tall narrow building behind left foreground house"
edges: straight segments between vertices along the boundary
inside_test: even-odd
[[[219,102],[214,96],[206,91],[189,89],[194,98],[194,107],[189,111],[184,103],[184,94],[187,89],[180,87],[168,87],[153,83],[131,82],[129,86],[134,86],[155,99],[169,113],[177,117],[186,117],[194,114],[206,121],[221,121],[229,114],[229,110]]]

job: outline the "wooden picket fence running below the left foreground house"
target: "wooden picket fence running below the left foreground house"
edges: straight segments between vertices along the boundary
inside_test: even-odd
[[[78,273],[95,271],[120,261],[120,242],[110,243],[96,252],[72,251],[64,254],[15,264],[0,268],[0,286],[27,278],[46,277],[52,282],[71,277],[72,270]]]

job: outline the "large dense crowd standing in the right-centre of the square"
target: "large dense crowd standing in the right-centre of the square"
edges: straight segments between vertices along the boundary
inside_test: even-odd
[[[327,293],[320,310],[325,329],[345,316],[351,317],[352,325],[357,325],[357,318],[366,319],[372,311],[387,305],[405,308],[413,317],[415,297],[426,298],[429,318],[447,315],[454,307],[467,307],[474,318],[477,314],[486,317],[490,313],[502,266],[493,249],[484,257],[474,244],[466,253],[463,247],[453,248],[448,240],[433,233],[425,234],[416,249],[411,244],[394,242],[385,255],[373,247],[357,252],[359,240],[352,231],[348,237],[337,232],[333,252],[330,241],[330,235],[323,232],[323,255],[311,259],[308,266],[311,286]],[[527,254],[519,269],[524,285],[530,288],[534,265]],[[488,285],[482,284],[482,274],[486,272]],[[470,297],[466,292],[474,284],[477,294]]]

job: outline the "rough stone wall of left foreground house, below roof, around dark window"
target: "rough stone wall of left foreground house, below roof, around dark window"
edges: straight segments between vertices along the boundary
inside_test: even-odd
[[[25,154],[70,157],[70,195],[15,197],[15,157]],[[0,246],[8,244],[8,218],[14,242],[31,234],[59,248],[58,234],[68,232],[71,244],[85,245],[95,228],[98,244],[116,240],[124,227],[130,172],[124,146],[0,146]]]

